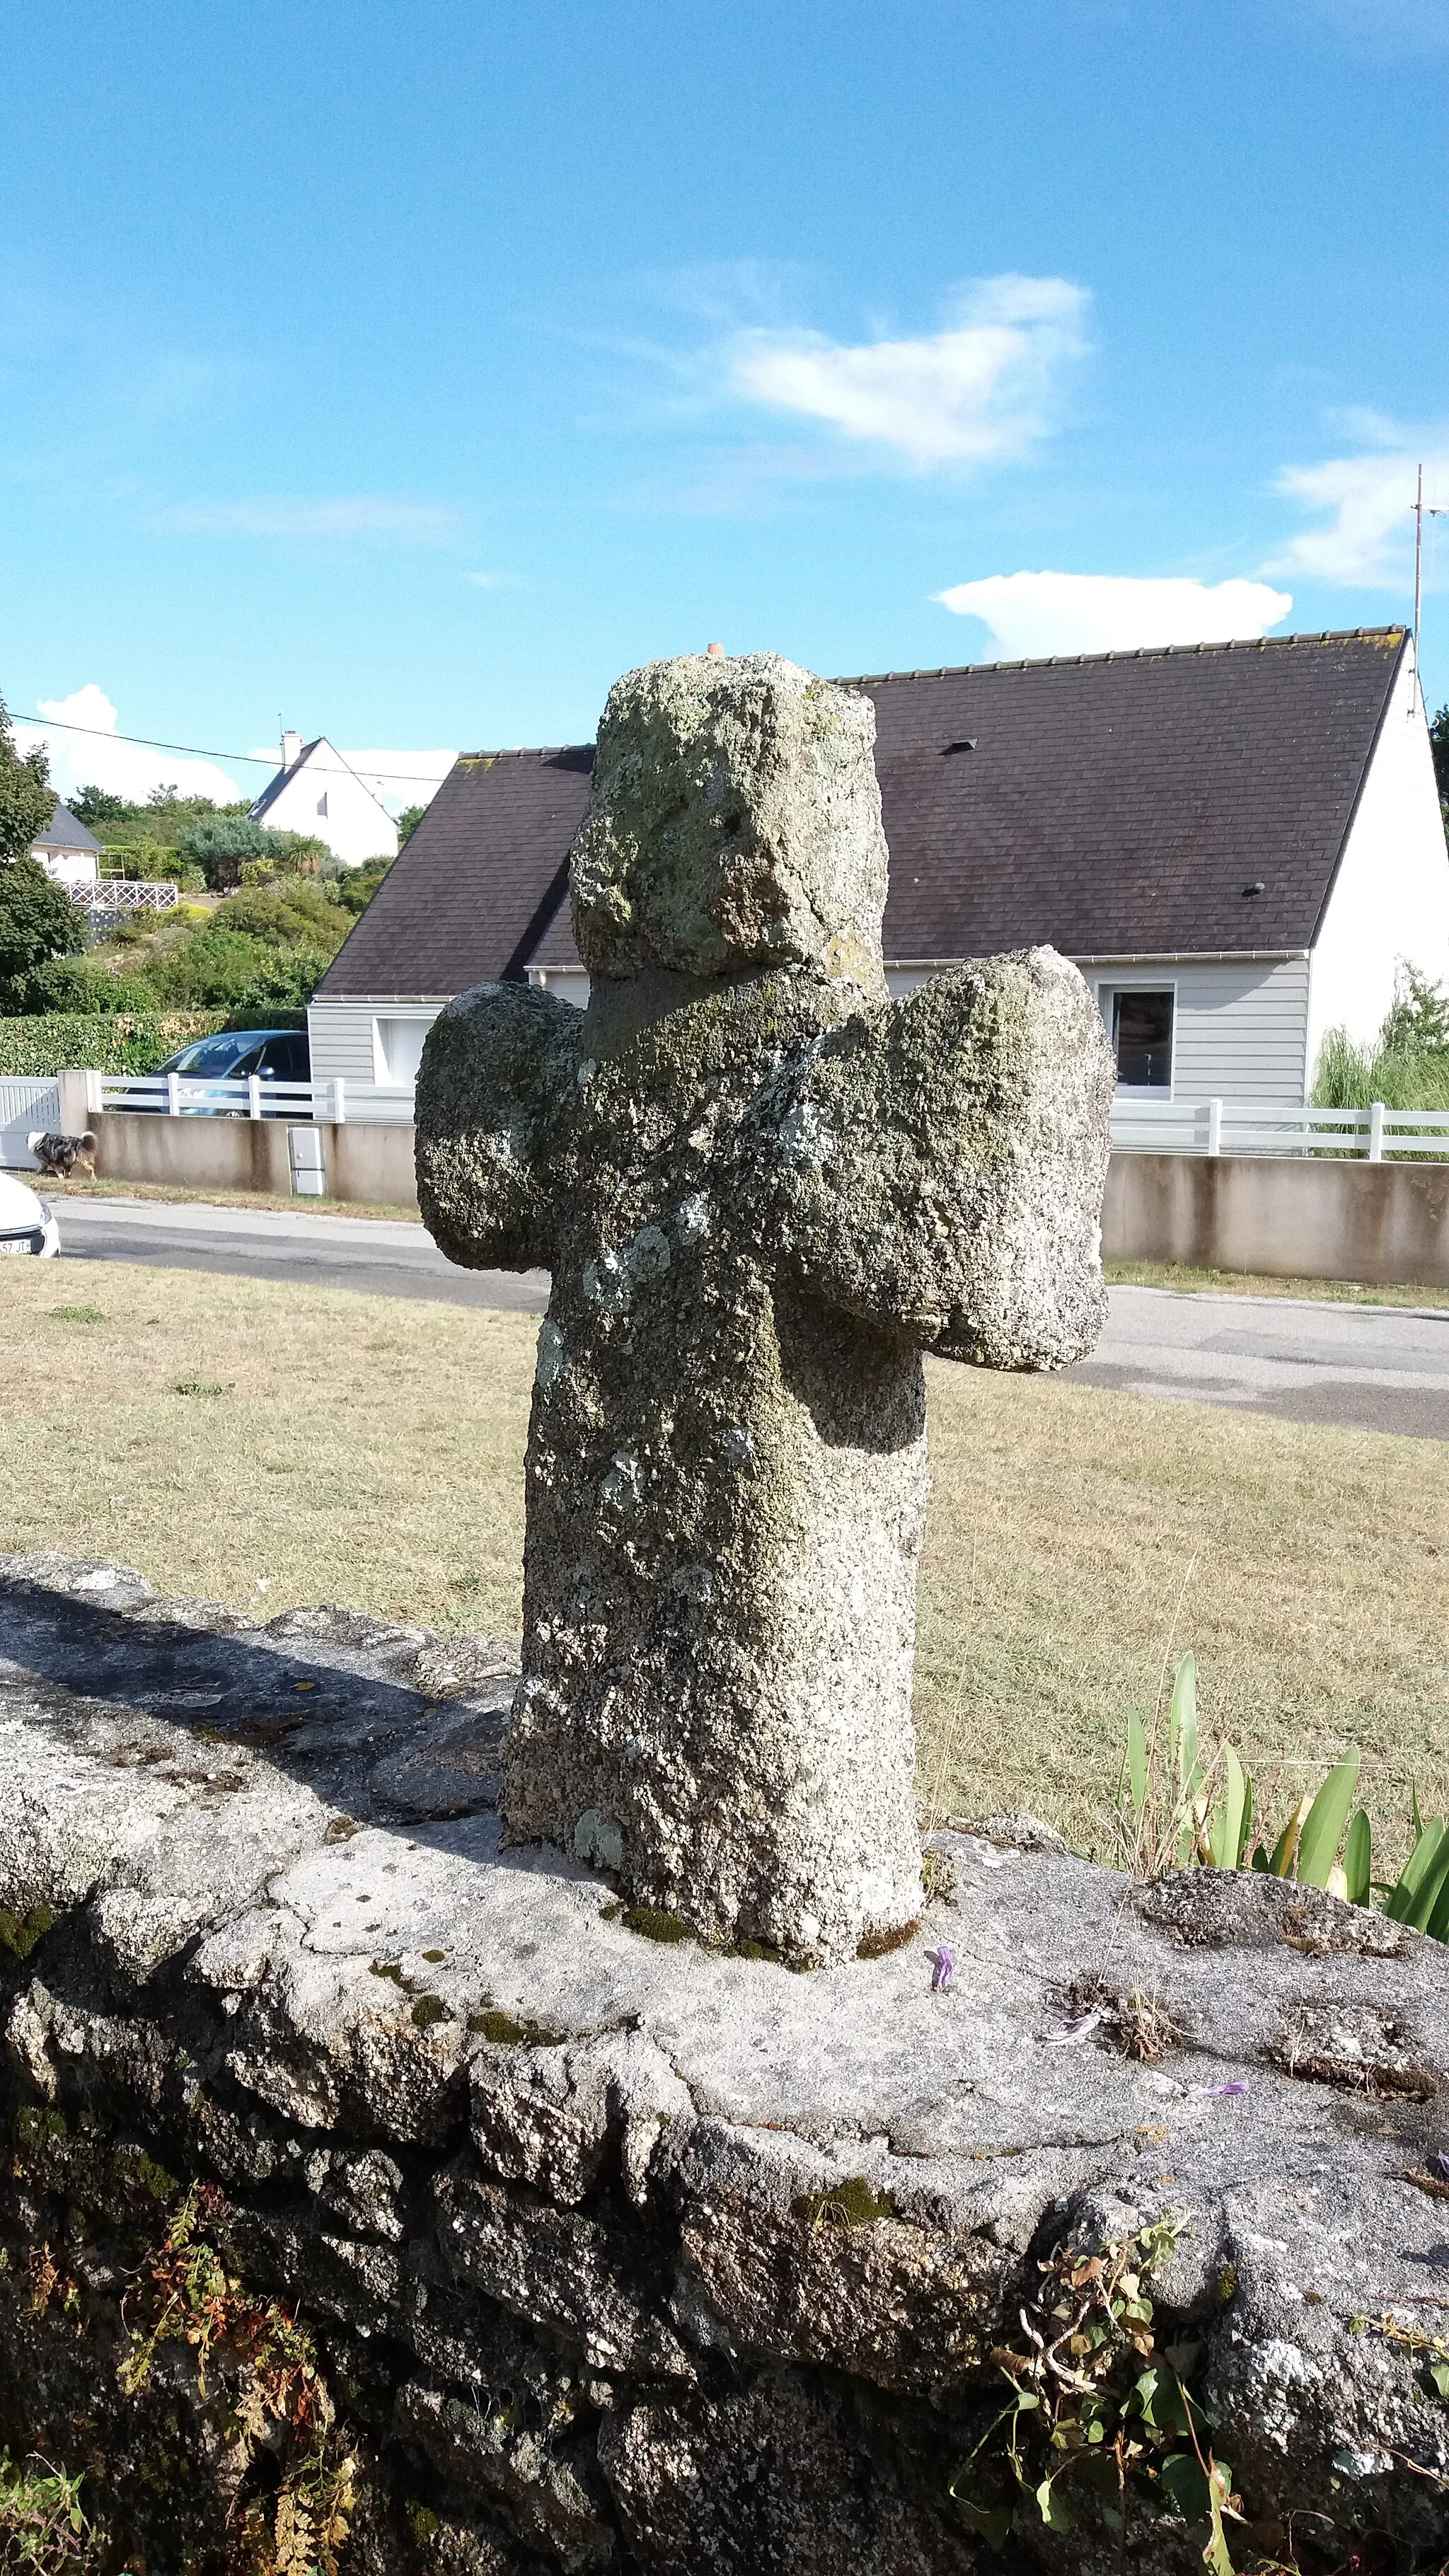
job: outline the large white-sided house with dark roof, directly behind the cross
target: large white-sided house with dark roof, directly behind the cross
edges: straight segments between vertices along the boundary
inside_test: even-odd
[[[1328,1028],[1374,1033],[1400,958],[1449,971],[1397,626],[841,685],[877,711],[892,992],[1049,943],[1093,987],[1124,1092],[1297,1105]],[[567,853],[590,762],[454,765],[317,987],[315,1079],[413,1082],[441,1005],[485,979],[588,999]]]

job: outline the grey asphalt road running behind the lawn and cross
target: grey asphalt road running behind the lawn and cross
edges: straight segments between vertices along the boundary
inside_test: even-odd
[[[541,1270],[456,1270],[423,1226],[369,1216],[57,1200],[62,1257],[240,1270],[374,1296],[541,1314]],[[1085,1386],[1186,1404],[1235,1404],[1284,1422],[1449,1440],[1449,1306],[1328,1306],[1307,1298],[1114,1288]]]

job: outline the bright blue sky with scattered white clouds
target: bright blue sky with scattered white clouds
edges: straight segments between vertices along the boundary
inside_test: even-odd
[[[402,773],[714,636],[1403,618],[1418,456],[1449,502],[1449,0],[5,0],[0,41],[18,719]]]

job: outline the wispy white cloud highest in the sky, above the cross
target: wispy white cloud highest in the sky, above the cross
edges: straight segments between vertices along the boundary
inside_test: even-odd
[[[1083,355],[1088,294],[1065,278],[980,278],[928,340],[846,348],[820,332],[743,332],[730,386],[776,412],[828,420],[913,466],[1024,456]]]

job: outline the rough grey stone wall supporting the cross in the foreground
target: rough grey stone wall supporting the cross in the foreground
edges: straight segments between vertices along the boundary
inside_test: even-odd
[[[995,1819],[792,1973],[503,1847],[505,1646],[0,1577],[0,2445],[98,2568],[1186,2576],[1150,2370],[1232,2566],[1439,2566],[1439,1945]],[[1140,2293],[1124,2535],[1006,2458],[1062,2249]]]

